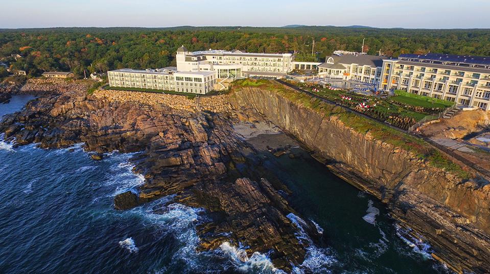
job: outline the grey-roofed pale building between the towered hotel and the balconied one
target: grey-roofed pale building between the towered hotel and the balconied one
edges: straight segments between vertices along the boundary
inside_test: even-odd
[[[387,57],[366,54],[332,55],[318,66],[318,76],[339,80],[355,80],[377,85],[381,67]]]

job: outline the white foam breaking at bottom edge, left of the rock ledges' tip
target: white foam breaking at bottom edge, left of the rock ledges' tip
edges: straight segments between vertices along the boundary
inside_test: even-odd
[[[229,242],[220,245],[221,251],[229,258],[230,262],[240,272],[259,272],[259,273],[285,273],[274,267],[266,254],[254,252],[250,257],[242,247],[232,246]]]

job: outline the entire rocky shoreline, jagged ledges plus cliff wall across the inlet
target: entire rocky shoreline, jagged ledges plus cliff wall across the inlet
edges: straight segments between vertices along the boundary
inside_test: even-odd
[[[490,269],[484,260],[490,256],[489,184],[461,180],[271,90],[242,88],[201,98],[198,105],[177,95],[110,90],[87,95],[78,83],[74,89],[55,83],[51,93],[32,85],[28,88],[43,95],[4,118],[0,132],[5,138],[41,147],[84,142],[98,153],[143,151],[133,162],[146,182],[116,196],[115,208],[167,195],[204,208],[211,221],[198,229],[203,250],[225,240],[247,243],[249,254],[273,250],[272,262],[286,271],[304,260],[307,246],[296,239],[296,228],[286,217],[294,210],[278,194],[288,190],[264,178],[263,170],[244,156],[255,148],[243,137],[259,134],[253,127],[270,120],[339,177],[386,203],[402,225],[435,247],[435,259],[460,273]],[[243,126],[239,122],[252,129],[238,134],[234,125]],[[287,147],[274,153],[287,153]],[[311,223],[307,226],[313,239],[318,236]]]

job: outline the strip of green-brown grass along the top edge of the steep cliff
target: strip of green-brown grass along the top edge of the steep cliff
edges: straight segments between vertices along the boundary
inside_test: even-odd
[[[342,107],[326,103],[306,93],[295,91],[275,81],[244,79],[234,82],[234,90],[239,90],[241,87],[255,87],[276,92],[291,102],[310,108],[317,113],[328,117],[336,116],[345,126],[361,134],[369,134],[374,139],[411,152],[418,159],[425,160],[431,166],[444,168],[461,179],[473,177],[469,172],[463,170],[460,165],[447,159],[444,154],[423,139],[395,130],[382,122],[346,111]]]

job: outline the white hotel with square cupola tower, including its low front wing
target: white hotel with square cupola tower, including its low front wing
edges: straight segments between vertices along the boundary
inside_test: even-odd
[[[177,49],[177,67],[108,71],[109,86],[206,94],[227,80],[250,76],[282,78],[294,67],[292,54],[243,53]]]

